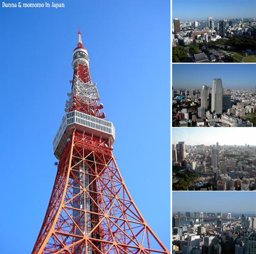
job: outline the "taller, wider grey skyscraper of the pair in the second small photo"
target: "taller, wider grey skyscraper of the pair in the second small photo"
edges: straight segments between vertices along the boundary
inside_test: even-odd
[[[214,78],[212,81],[211,111],[217,114],[222,113],[223,86],[221,78]]]

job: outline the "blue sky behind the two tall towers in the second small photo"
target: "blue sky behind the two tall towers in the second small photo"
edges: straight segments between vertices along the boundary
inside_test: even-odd
[[[173,64],[174,89],[212,87],[214,78],[221,78],[226,89],[253,89],[256,85],[255,64]]]

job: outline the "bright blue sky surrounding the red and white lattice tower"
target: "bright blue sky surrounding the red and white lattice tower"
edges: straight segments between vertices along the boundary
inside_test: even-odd
[[[44,219],[56,174],[52,141],[71,89],[78,27],[92,82],[116,128],[118,167],[169,248],[170,3],[61,2],[65,8],[57,10],[0,6],[1,251],[30,253]]]

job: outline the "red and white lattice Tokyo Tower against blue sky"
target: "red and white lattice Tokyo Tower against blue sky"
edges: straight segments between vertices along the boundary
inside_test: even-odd
[[[144,221],[113,156],[115,128],[89,72],[78,32],[65,115],[53,141],[59,160],[32,254],[169,253]]]

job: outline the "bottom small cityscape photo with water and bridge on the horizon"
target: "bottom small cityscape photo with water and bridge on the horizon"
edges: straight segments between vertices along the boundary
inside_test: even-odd
[[[256,192],[172,195],[172,253],[255,253]]]

